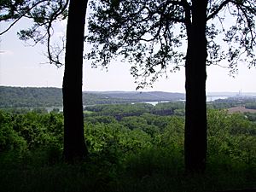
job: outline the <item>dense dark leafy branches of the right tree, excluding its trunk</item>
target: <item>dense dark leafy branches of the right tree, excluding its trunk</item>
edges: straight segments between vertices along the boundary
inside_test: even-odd
[[[233,73],[241,61],[255,66],[254,1],[206,3],[206,65],[228,61]],[[138,88],[152,84],[184,65],[195,6],[196,2],[187,0],[91,2],[86,40],[93,46],[87,56],[95,67],[108,67],[113,58],[121,56],[132,64],[131,74]]]

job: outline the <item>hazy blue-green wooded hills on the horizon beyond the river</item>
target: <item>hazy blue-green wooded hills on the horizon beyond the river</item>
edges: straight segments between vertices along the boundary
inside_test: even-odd
[[[179,99],[184,99],[183,93],[162,91],[86,91],[83,93],[84,105],[177,101]],[[62,106],[61,88],[0,86],[0,108],[35,108],[52,106]]]

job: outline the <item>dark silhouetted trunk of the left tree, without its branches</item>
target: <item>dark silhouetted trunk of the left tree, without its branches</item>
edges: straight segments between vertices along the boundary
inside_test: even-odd
[[[69,162],[87,155],[82,101],[84,24],[87,0],[70,0],[67,20],[65,72],[62,85],[64,158]]]

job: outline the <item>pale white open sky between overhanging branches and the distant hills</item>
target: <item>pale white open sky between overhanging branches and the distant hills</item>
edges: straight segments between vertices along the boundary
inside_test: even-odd
[[[0,36],[0,85],[20,87],[59,87],[62,85],[64,67],[55,67],[47,63],[46,46],[38,44],[28,46],[19,40],[16,33],[26,28],[28,23],[21,20],[9,32]],[[0,32],[6,23],[0,23]],[[55,34],[62,34],[65,23],[56,27]],[[86,48],[85,48],[86,49]],[[136,90],[137,84],[130,74],[129,63],[113,61],[105,69],[91,68],[90,61],[84,60],[83,90]],[[142,91],[161,90],[168,92],[185,92],[184,68],[160,78],[153,88]],[[207,92],[256,92],[256,68],[239,66],[236,77],[230,77],[229,69],[217,66],[207,67]]]

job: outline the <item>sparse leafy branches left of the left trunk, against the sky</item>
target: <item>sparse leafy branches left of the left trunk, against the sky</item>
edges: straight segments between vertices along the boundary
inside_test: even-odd
[[[0,35],[8,32],[15,23],[26,18],[32,20],[33,25],[28,29],[18,32],[19,38],[24,41],[32,41],[32,44],[47,44],[47,56],[50,63],[61,66],[61,56],[64,45],[56,45],[51,42],[54,35],[53,26],[56,20],[67,18],[67,3],[63,0],[3,0],[0,3],[2,14],[1,21],[8,21],[8,26],[1,30]],[[63,43],[63,42],[62,42]]]

